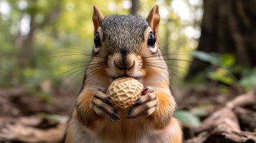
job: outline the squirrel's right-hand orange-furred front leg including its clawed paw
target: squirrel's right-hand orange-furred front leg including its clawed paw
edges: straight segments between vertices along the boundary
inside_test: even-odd
[[[145,87],[142,96],[129,109],[127,118],[135,119],[145,115],[154,128],[164,128],[170,122],[176,103],[170,93],[154,91],[153,87]]]

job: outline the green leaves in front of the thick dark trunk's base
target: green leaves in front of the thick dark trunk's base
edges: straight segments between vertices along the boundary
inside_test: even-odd
[[[235,56],[232,54],[218,54],[206,52],[193,52],[193,56],[205,62],[210,62],[216,66],[215,70],[207,72],[209,79],[220,81],[226,85],[234,87],[243,87],[247,91],[256,87],[256,72],[255,68],[247,69],[236,65]],[[242,75],[240,80],[237,80],[235,74]]]

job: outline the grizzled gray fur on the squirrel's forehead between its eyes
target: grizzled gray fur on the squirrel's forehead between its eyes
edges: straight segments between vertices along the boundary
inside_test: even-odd
[[[112,15],[106,17],[100,27],[103,32],[102,40],[110,54],[122,51],[138,54],[148,22],[137,15]]]

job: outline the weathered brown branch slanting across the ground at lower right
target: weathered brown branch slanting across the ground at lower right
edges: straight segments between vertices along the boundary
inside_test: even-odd
[[[247,118],[249,111],[245,111],[245,109],[239,107],[253,103],[256,103],[256,91],[240,95],[229,101],[226,106],[212,113],[212,115],[203,121],[203,124],[199,128],[195,129],[197,133],[195,138],[191,138],[185,142],[212,142],[212,140],[216,141],[220,138],[231,140],[232,142],[246,142],[247,140],[256,142],[256,133],[241,131],[236,115],[238,113],[241,119],[245,122],[253,122],[253,126],[255,126],[255,113]]]

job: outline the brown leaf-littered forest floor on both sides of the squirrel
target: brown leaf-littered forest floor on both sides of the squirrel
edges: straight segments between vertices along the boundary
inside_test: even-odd
[[[203,108],[199,126],[183,124],[184,142],[256,142],[256,91],[222,95],[177,90],[178,109]],[[0,88],[0,142],[59,142],[77,95],[55,91],[42,100],[21,88]]]

